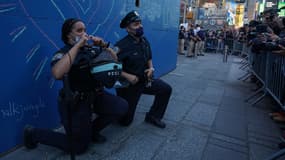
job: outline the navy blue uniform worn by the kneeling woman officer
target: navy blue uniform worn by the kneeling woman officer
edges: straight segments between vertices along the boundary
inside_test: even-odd
[[[51,66],[55,65],[71,48],[72,46],[66,45],[56,52]],[[90,70],[82,68],[92,58],[92,54],[85,53],[83,49],[80,49],[68,72],[71,90],[78,92],[80,95],[71,113],[71,130],[68,127],[68,108],[64,103],[59,102],[58,110],[66,134],[34,128],[33,142],[54,146],[70,152],[71,147],[67,135],[72,131],[72,151],[79,154],[86,151],[92,140],[96,141],[96,136],[102,129],[122,115],[125,115],[128,108],[127,102],[104,91],[103,86],[92,78]],[[93,112],[97,114],[97,117],[92,121]]]

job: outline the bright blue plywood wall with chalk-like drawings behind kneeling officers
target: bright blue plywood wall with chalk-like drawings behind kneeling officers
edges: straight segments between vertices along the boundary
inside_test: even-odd
[[[58,127],[57,90],[50,74],[53,53],[63,46],[61,25],[77,17],[89,34],[115,43],[126,35],[122,17],[137,10],[150,43],[156,76],[176,67],[180,0],[0,0],[0,153],[22,143],[25,124]]]

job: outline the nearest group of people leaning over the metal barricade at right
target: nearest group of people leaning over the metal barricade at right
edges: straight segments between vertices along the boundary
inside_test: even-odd
[[[246,44],[251,49],[252,54],[274,54],[279,55],[279,58],[285,56],[285,18],[279,17],[278,12],[278,9],[266,10],[260,15],[259,19],[252,20],[245,28]],[[279,89],[281,94],[284,95],[284,91],[281,88]],[[279,148],[285,148],[285,131],[282,127],[285,124],[284,108],[278,107],[274,109],[272,113],[269,113],[269,116],[274,122],[279,124],[282,132],[282,141],[279,143]]]

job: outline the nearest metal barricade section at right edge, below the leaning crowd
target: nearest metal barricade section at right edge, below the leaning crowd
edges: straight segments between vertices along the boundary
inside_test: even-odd
[[[269,93],[285,110],[285,57],[271,51],[248,51],[251,72],[263,84],[263,91]]]

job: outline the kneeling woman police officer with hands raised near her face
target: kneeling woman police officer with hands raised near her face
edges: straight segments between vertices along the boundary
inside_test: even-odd
[[[52,74],[56,79],[62,79],[67,73],[70,88],[73,92],[79,93],[79,99],[75,102],[75,106],[72,106],[71,113],[68,113],[70,106],[65,106],[64,103],[58,105],[66,134],[27,126],[24,130],[24,145],[33,149],[37,143],[41,143],[79,154],[86,151],[90,142],[102,143],[106,140],[99,132],[125,115],[128,104],[124,99],[105,92],[102,84],[96,82],[90,75],[90,69],[82,68],[84,63],[93,58],[92,54],[84,49],[87,40],[93,41],[93,45],[99,45],[102,39],[88,36],[84,23],[74,18],[64,22],[61,37],[65,46],[52,58]],[[92,112],[97,114],[93,121]],[[68,114],[71,114],[70,126],[68,126],[70,122]],[[72,132],[72,146],[68,137],[70,132]]]

